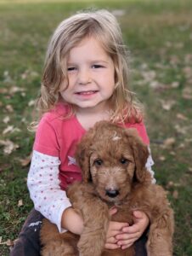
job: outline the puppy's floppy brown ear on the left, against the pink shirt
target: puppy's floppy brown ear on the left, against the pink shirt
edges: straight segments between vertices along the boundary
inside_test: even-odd
[[[86,135],[82,137],[80,143],[76,147],[76,162],[82,170],[82,181],[85,183],[91,182],[90,173],[90,156],[91,156],[91,145],[93,141],[92,131],[88,131]]]

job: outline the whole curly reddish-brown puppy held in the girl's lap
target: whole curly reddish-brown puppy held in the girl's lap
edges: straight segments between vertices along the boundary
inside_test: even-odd
[[[134,248],[104,249],[110,220],[133,224],[133,211],[150,218],[148,256],[171,256],[173,212],[161,186],[151,183],[145,169],[147,146],[137,131],[102,121],[82,137],[76,160],[82,169],[82,183],[67,190],[72,206],[81,214],[81,236],[59,234],[56,226],[44,220],[41,230],[42,255],[133,256]],[[118,211],[110,217],[109,208]]]

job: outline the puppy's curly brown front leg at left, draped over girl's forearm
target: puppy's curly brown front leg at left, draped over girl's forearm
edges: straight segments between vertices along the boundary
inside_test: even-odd
[[[67,191],[72,206],[82,215],[84,229],[77,244],[81,256],[100,256],[110,222],[107,205],[94,195],[91,185],[75,183]]]

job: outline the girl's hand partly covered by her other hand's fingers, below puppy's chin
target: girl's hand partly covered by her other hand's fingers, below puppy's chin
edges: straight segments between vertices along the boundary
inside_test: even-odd
[[[110,216],[116,213],[116,207],[110,209]],[[117,244],[116,236],[122,234],[122,229],[128,226],[127,223],[120,223],[115,221],[110,221],[110,225],[107,232],[106,242],[104,247],[106,249],[116,249],[121,247]]]

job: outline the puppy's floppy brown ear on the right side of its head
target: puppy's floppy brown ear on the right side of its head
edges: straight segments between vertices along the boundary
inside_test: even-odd
[[[135,177],[139,183],[142,183],[146,175],[145,164],[149,157],[149,149],[138,136],[138,132],[135,129],[128,129],[127,137],[128,143],[133,150],[133,158],[136,166]]]

